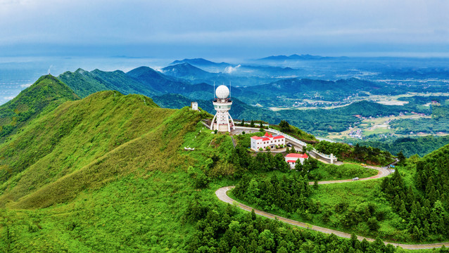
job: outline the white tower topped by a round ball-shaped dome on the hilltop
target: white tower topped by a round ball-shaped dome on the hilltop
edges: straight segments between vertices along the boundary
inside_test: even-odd
[[[218,130],[220,132],[232,131],[234,129],[234,120],[229,115],[231,110],[232,100],[229,98],[229,89],[225,85],[220,85],[215,90],[213,106],[217,113],[212,119],[210,130]]]

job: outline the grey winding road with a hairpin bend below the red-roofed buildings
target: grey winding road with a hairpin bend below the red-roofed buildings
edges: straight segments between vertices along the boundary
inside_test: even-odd
[[[370,179],[380,179],[384,176],[388,176],[390,174],[390,171],[387,169],[387,167],[371,167],[371,166],[367,166],[367,168],[369,169],[377,169],[377,171],[379,171],[377,173],[376,176],[371,176],[369,178],[365,178],[365,179],[359,179],[360,181],[363,180],[370,180]],[[346,180],[334,180],[334,181],[319,181],[318,184],[325,184],[325,183],[348,183],[348,182],[353,182],[352,179],[346,179]],[[309,184],[313,184],[313,182],[310,182]],[[227,191],[231,190],[232,188],[234,188],[235,186],[226,186],[226,187],[222,187],[218,190],[215,191],[215,195],[217,195],[219,200],[222,200],[223,202],[227,202],[231,205],[237,205],[238,207],[240,207],[241,209],[244,209],[248,212],[251,212],[253,210],[252,207],[249,207],[247,205],[241,204],[240,202],[237,202],[236,200],[233,200],[231,197],[229,197],[227,195]],[[292,219],[286,219],[282,216],[277,216],[275,214],[270,214],[268,212],[263,212],[260,211],[258,209],[254,209],[255,214],[258,214],[260,216],[264,216],[267,217],[269,219],[278,219],[279,221],[285,222],[285,223],[289,223],[293,226],[300,226],[302,228],[308,228],[314,231],[320,231],[323,233],[334,233],[337,236],[340,236],[342,238],[350,238],[350,234],[349,233],[344,233],[341,231],[336,231],[333,229],[329,229],[329,228],[323,228],[320,226],[314,226],[314,225],[310,225],[308,223],[303,223],[300,221],[294,221]],[[372,238],[365,238],[362,236],[357,236],[358,240],[363,240],[366,239],[369,242],[374,242],[374,239]],[[422,244],[422,245],[407,245],[407,244],[401,244],[401,243],[395,243],[395,242],[385,242],[385,244],[391,244],[395,247],[402,247],[403,249],[432,249],[432,248],[438,248],[438,247],[442,247],[443,245],[445,245],[446,247],[449,247],[449,242],[438,242],[438,243],[432,243],[432,244]]]

